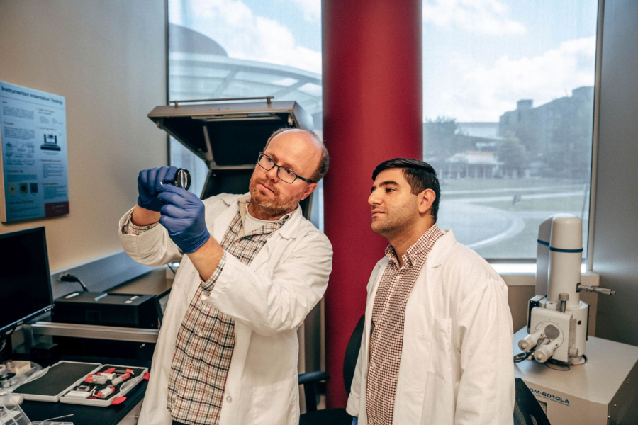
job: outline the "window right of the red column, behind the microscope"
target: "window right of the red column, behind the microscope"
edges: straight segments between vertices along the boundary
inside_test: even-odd
[[[425,161],[440,226],[488,259],[535,259],[539,224],[587,244],[598,1],[423,1]]]

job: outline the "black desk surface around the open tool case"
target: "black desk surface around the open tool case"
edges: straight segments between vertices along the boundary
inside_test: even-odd
[[[111,363],[116,365],[131,365],[150,367],[150,361],[139,361],[123,358],[86,358],[86,357],[65,357],[62,360],[87,361],[93,363]],[[147,381],[142,381],[130,390],[126,395],[126,400],[122,404],[109,407],[82,406],[79,404],[48,403],[27,401],[21,404],[25,414],[31,421],[44,421],[45,419],[57,418],[67,414],[74,416],[60,419],[60,421],[73,422],[74,425],[116,425],[137,406],[146,392]]]

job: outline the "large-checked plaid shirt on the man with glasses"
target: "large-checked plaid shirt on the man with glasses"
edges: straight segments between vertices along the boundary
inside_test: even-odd
[[[230,358],[235,348],[235,321],[204,303],[201,300],[203,293],[213,290],[227,254],[249,266],[267,239],[291,217],[291,214],[284,215],[244,234],[247,207],[248,202],[240,200],[237,215],[220,242],[224,249],[222,259],[213,276],[206,282],[201,281],[177,334],[167,407],[172,419],[184,424],[218,424]],[[154,226],[135,226],[129,219],[127,229],[123,230],[140,234]]]

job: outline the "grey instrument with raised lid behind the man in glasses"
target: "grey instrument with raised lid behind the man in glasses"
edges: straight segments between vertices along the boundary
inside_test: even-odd
[[[280,128],[313,130],[312,115],[296,101],[272,99],[171,101],[172,105],[154,108],[148,118],[206,164],[208,175],[200,198],[247,193],[259,152],[272,133]],[[306,218],[312,196],[300,203]]]

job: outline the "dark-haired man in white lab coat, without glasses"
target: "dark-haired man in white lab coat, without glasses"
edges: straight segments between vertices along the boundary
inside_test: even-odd
[[[372,230],[390,245],[367,286],[347,404],[353,424],[512,424],[505,283],[437,226],[440,186],[430,164],[391,159],[372,179]]]

